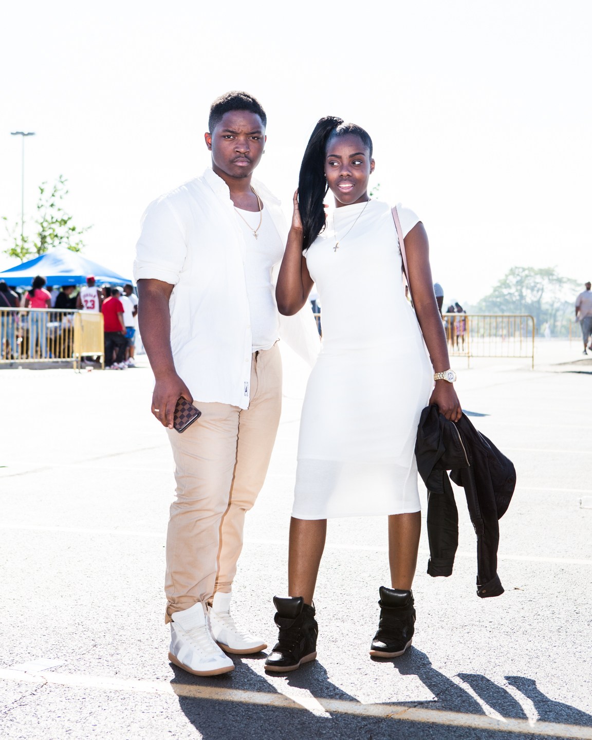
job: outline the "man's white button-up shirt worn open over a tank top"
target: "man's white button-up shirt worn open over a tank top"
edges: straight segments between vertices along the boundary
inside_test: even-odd
[[[253,181],[253,186],[285,243],[280,202],[263,184]],[[174,286],[172,356],[195,400],[249,407],[252,332],[245,260],[245,235],[229,188],[212,169],[144,212],[134,277]],[[320,342],[309,306],[294,317],[280,317],[280,335],[314,363]]]

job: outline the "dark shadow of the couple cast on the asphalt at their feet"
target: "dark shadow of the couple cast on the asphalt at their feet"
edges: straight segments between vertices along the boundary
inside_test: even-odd
[[[262,658],[265,656],[262,653]],[[218,699],[193,698],[178,696],[179,707],[186,718],[198,731],[197,737],[205,740],[315,740],[352,739],[352,740],[516,740],[517,736],[532,737],[528,732],[505,732],[503,730],[483,730],[477,727],[457,727],[443,724],[442,721],[429,721],[429,711],[464,713],[484,716],[481,705],[471,693],[462,689],[454,681],[436,670],[428,656],[421,650],[411,648],[401,658],[391,661],[394,670],[400,676],[417,676],[425,687],[434,694],[434,699],[427,702],[389,702],[389,705],[413,707],[425,710],[424,721],[406,721],[388,717],[356,716],[347,713],[329,713],[323,711],[320,704],[315,707],[312,702],[308,709],[292,707],[272,707],[250,702],[221,701]],[[243,661],[237,661],[235,671],[226,676],[201,679],[191,676],[172,666],[175,684],[213,687],[218,689],[236,689],[277,695],[275,687],[263,676],[260,676]],[[392,680],[385,674],[385,680]],[[527,719],[522,706],[505,688],[498,686],[490,679],[477,673],[459,673],[459,678],[492,709],[507,719]],[[294,673],[283,676],[286,682],[286,695],[295,696],[295,702],[303,697],[316,699],[337,699],[342,702],[358,704],[351,695],[340,689],[327,678],[323,665],[314,661]],[[539,713],[539,721],[572,724],[583,727],[592,726],[592,716],[562,702],[554,702],[536,687],[534,679],[524,676],[506,676],[508,684],[515,687],[533,702]],[[306,693],[292,694],[290,689],[306,690]],[[359,705],[358,705],[359,706]],[[547,736],[548,738],[551,736]],[[556,736],[562,737],[561,735]]]

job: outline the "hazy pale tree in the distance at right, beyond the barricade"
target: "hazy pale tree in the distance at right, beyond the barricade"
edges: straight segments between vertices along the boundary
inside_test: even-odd
[[[567,330],[578,283],[553,267],[512,267],[489,295],[477,303],[485,314],[531,314],[536,329],[548,323],[554,335]]]

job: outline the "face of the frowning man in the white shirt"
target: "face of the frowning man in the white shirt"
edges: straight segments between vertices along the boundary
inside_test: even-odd
[[[212,132],[206,133],[206,147],[212,152],[212,169],[217,175],[247,178],[259,164],[266,135],[263,121],[248,110],[229,110]]]

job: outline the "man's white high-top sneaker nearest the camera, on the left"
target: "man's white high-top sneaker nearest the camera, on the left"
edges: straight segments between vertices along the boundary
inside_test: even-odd
[[[217,676],[235,670],[235,664],[216,645],[201,602],[171,616],[169,661],[195,676]]]

